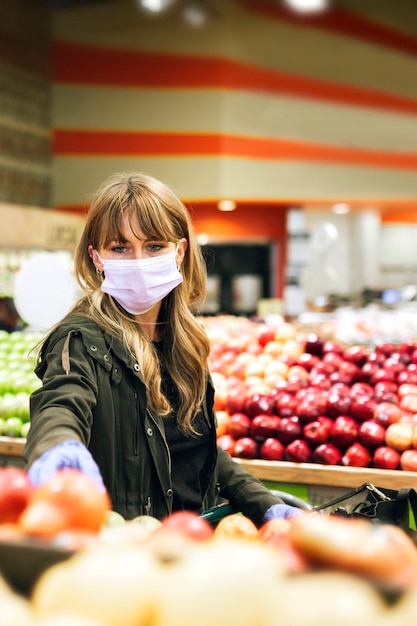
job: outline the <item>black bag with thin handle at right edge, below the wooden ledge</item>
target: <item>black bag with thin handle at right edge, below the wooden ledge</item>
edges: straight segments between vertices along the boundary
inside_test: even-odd
[[[357,496],[365,492],[365,500],[357,502]],[[346,493],[331,502],[313,507],[313,511],[334,507],[355,498],[351,508],[337,507],[331,515],[343,517],[362,517],[376,523],[394,524],[402,528],[417,543],[417,492],[412,488],[399,491],[375,487],[372,483],[364,483],[353,491]],[[414,518],[414,519],[413,519]]]

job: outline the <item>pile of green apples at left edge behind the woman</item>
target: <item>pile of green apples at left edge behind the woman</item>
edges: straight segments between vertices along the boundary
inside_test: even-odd
[[[29,396],[40,385],[33,356],[38,340],[24,330],[0,331],[0,436],[27,436]]]

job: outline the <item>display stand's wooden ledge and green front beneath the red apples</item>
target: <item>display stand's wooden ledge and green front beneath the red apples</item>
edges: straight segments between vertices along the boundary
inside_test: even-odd
[[[288,491],[313,506],[324,504],[365,482],[387,489],[402,487],[417,489],[416,472],[261,459],[236,459],[236,461],[270,489]]]

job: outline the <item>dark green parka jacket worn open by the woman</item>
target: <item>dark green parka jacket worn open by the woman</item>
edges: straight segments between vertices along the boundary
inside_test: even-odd
[[[74,317],[49,336],[36,373],[43,385],[30,400],[28,466],[52,446],[79,441],[98,464],[115,511],[125,519],[168,515],[173,491],[163,419],[149,410],[139,364],[122,342],[92,320]],[[259,526],[266,509],[281,500],[216,445],[213,400],[209,381],[204,412],[213,464],[203,509],[228,500]]]

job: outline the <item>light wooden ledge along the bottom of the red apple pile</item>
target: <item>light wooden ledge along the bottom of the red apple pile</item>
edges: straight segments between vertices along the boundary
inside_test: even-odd
[[[251,474],[264,481],[295,483],[302,485],[325,485],[354,489],[362,483],[371,482],[387,489],[414,487],[417,489],[417,472],[382,470],[359,467],[339,467],[315,463],[290,463],[289,461],[262,461],[237,459]]]

